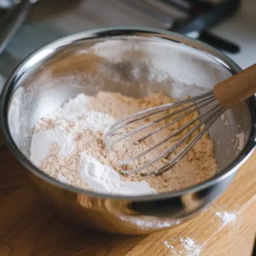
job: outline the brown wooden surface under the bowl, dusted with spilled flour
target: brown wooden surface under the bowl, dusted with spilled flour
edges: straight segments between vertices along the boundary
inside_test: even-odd
[[[149,236],[119,236],[87,230],[55,212],[0,138],[0,255],[249,256],[256,231],[255,162],[256,152],[224,195],[185,224]]]

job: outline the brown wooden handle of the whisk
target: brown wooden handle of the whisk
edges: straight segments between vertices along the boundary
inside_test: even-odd
[[[253,96],[256,93],[256,64],[216,84],[213,93],[224,108],[232,108]]]

